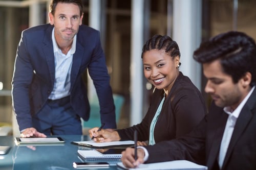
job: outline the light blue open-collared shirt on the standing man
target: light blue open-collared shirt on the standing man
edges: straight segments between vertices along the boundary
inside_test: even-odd
[[[49,99],[57,100],[70,95],[70,75],[73,54],[76,51],[76,35],[74,36],[72,47],[67,55],[63,54],[57,45],[54,37],[54,28],[52,31],[52,42],[55,61],[55,79],[54,87],[49,96]]]

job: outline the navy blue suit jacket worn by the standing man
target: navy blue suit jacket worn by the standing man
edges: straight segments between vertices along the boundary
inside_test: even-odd
[[[32,127],[31,114],[36,114],[48,100],[55,78],[50,24],[23,31],[15,60],[12,98],[19,130]],[[99,32],[80,26],[76,52],[71,69],[70,101],[74,111],[88,120],[90,105],[82,75],[88,68],[100,103],[101,122],[104,128],[116,128],[110,76],[100,44]]]

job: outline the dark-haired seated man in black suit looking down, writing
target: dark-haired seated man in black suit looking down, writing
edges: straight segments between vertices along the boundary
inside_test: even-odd
[[[241,32],[220,34],[200,45],[194,59],[203,65],[205,91],[214,103],[189,134],[138,149],[126,149],[122,162],[187,159],[214,169],[256,169],[256,45]]]

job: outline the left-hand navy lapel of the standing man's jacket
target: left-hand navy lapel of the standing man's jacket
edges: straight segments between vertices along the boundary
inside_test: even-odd
[[[51,84],[54,84],[54,77],[55,77],[55,64],[54,64],[54,53],[53,53],[53,44],[52,44],[52,30],[53,26],[48,27],[46,30],[45,38],[44,38],[44,46],[42,49],[45,53],[46,61],[48,63]]]

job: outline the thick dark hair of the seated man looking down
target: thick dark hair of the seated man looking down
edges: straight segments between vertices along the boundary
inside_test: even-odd
[[[219,34],[201,43],[193,58],[200,63],[220,59],[223,71],[232,77],[233,83],[250,72],[250,85],[256,85],[256,45],[245,33],[230,31]]]

